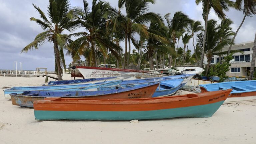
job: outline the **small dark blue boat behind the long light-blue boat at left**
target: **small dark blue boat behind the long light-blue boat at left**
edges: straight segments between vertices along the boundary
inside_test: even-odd
[[[114,81],[116,79],[117,79],[117,77],[90,78],[90,79],[77,79],[77,80],[61,80],[61,81],[50,81],[50,82],[48,82],[48,85],[98,83],[98,82]]]

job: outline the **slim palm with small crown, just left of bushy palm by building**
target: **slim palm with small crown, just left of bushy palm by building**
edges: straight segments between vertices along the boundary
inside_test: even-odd
[[[195,22],[193,21],[193,22],[191,22],[191,23],[188,25],[188,27],[187,27],[187,31],[190,32],[191,35],[192,35],[192,39],[193,39],[192,44],[193,44],[193,47],[194,47],[194,51],[196,51],[196,47],[195,47],[195,45],[194,45],[194,34],[195,34],[196,32],[201,31],[201,30],[203,30],[203,26],[201,25],[201,22],[200,22],[200,21],[195,21]],[[198,66],[199,66],[199,61],[198,61],[197,53],[195,53],[195,56],[196,56],[197,64],[198,64]]]

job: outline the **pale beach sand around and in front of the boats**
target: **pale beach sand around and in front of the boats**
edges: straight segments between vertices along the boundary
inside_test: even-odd
[[[32,108],[14,106],[4,98],[2,87],[40,86],[44,80],[44,77],[0,77],[0,144],[256,143],[256,102],[222,105],[210,118],[139,120],[139,123],[130,123],[36,121]]]

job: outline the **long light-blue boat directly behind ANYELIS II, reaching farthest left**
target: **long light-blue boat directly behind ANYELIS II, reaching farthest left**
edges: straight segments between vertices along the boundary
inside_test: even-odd
[[[100,82],[96,84],[68,84],[68,85],[53,85],[53,86],[28,86],[28,87],[13,87],[4,90],[4,96],[6,99],[11,99],[11,93],[23,93],[24,91],[83,91],[96,90],[98,87],[119,85],[123,80],[116,80],[110,82]]]

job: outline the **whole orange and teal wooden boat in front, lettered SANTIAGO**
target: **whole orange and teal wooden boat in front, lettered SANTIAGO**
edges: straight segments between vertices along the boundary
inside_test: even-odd
[[[231,89],[146,99],[46,98],[34,102],[36,120],[134,120],[211,117]]]

